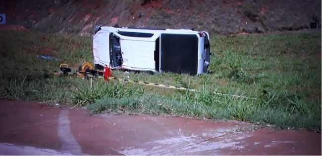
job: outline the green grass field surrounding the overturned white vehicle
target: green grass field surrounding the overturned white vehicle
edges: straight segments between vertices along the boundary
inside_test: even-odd
[[[86,106],[92,113],[173,115],[243,120],[278,128],[321,131],[321,32],[212,37],[210,70],[191,77],[123,73],[118,78],[199,89],[190,92],[135,83],[62,78],[51,73],[0,69],[0,97]],[[38,58],[43,47],[57,60]],[[74,70],[92,61],[91,38],[0,32],[1,67]],[[243,95],[238,98],[213,92]]]

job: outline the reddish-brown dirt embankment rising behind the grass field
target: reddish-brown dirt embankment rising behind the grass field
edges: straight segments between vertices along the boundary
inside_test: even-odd
[[[3,0],[0,12],[7,24],[47,33],[118,24],[226,35],[307,29],[321,22],[321,0]]]

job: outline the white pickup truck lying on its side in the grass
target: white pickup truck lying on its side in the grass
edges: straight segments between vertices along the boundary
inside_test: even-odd
[[[210,44],[207,32],[189,29],[139,29],[99,26],[93,36],[95,69],[207,73]]]

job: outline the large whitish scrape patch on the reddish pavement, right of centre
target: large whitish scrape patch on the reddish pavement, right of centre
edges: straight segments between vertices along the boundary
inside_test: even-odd
[[[124,155],[198,155],[208,153],[220,154],[220,149],[243,149],[243,139],[250,137],[241,132],[229,134],[226,132],[204,132],[184,136],[179,129],[178,136],[162,138],[160,140],[145,143],[146,148],[127,147],[118,151]],[[202,139],[207,136],[208,139]],[[212,139],[215,139],[212,141]],[[150,148],[149,148],[150,147]]]

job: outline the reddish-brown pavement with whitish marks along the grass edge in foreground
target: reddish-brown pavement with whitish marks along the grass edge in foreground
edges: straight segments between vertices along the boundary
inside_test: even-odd
[[[321,133],[0,101],[0,155],[320,155]],[[13,150],[15,149],[15,150]]]

